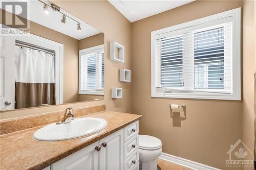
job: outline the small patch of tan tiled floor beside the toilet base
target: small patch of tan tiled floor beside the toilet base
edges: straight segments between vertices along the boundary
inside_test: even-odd
[[[157,159],[157,170],[191,170],[185,166],[181,166],[162,159]]]

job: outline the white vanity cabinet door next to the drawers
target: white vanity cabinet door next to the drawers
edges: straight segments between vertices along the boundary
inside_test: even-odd
[[[123,129],[101,139],[100,145],[99,169],[123,169]]]

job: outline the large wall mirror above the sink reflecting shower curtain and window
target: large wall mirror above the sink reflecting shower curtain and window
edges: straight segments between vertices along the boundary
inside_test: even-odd
[[[0,110],[103,100],[104,34],[49,1],[29,9],[28,35],[1,36]]]

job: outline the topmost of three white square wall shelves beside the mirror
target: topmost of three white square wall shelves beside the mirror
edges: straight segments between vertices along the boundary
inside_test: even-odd
[[[116,48],[119,49],[119,58],[117,58]],[[118,63],[124,62],[124,46],[120,45],[117,42],[111,42],[110,43],[110,59]]]

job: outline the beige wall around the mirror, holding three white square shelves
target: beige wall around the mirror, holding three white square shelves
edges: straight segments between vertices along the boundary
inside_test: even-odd
[[[108,1],[52,1],[56,5],[86,21],[93,27],[104,33],[105,52],[105,91],[104,100],[96,102],[81,102],[50,107],[13,110],[5,112],[6,115],[30,115],[45,113],[56,110],[65,110],[68,107],[83,107],[104,103],[107,110],[131,112],[132,111],[132,85],[131,83],[119,82],[119,69],[132,69],[131,43],[132,25],[121,13],[119,13]],[[38,33],[44,35],[44,32]],[[110,42],[116,41],[125,46],[125,62],[116,63],[110,61]],[[72,60],[70,62],[76,62]],[[66,65],[68,68],[68,65]],[[70,70],[70,78],[75,76],[76,70]],[[72,79],[72,81],[75,81]],[[66,82],[69,83],[69,82]],[[122,99],[111,98],[111,88],[123,88]],[[72,95],[72,94],[71,94]]]

